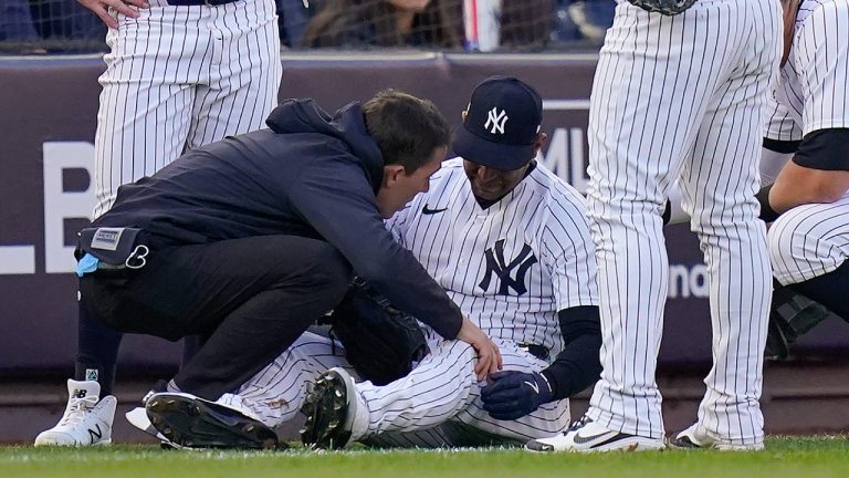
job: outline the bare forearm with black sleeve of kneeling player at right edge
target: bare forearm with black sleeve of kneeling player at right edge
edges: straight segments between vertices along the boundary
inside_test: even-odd
[[[775,220],[780,214],[806,204],[828,204],[849,190],[849,128],[809,133],[775,183],[757,194],[761,217]]]

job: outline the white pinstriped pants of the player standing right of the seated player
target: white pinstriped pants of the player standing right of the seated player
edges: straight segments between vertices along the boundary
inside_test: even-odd
[[[664,435],[656,382],[668,288],[660,215],[678,179],[710,280],[714,364],[699,426],[730,444],[761,443],[772,287],[754,195],[780,6],[700,0],[664,17],[618,2],[589,114],[604,372],[587,415],[610,430]]]

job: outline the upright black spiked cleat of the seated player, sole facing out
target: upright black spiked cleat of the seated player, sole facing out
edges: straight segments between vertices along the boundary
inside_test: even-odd
[[[301,441],[313,449],[339,449],[352,441],[358,403],[354,378],[342,368],[331,368],[313,385],[301,412],[306,423]]]

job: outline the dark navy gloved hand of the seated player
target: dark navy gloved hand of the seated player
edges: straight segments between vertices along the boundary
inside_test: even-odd
[[[481,389],[483,409],[495,419],[517,419],[552,401],[548,381],[539,373],[516,371],[490,375],[490,384]]]

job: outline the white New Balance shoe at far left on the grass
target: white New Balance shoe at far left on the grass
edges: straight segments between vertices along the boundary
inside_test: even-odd
[[[117,398],[98,399],[101,384],[67,381],[67,406],[59,424],[35,437],[35,446],[93,446],[112,443],[112,422]]]

